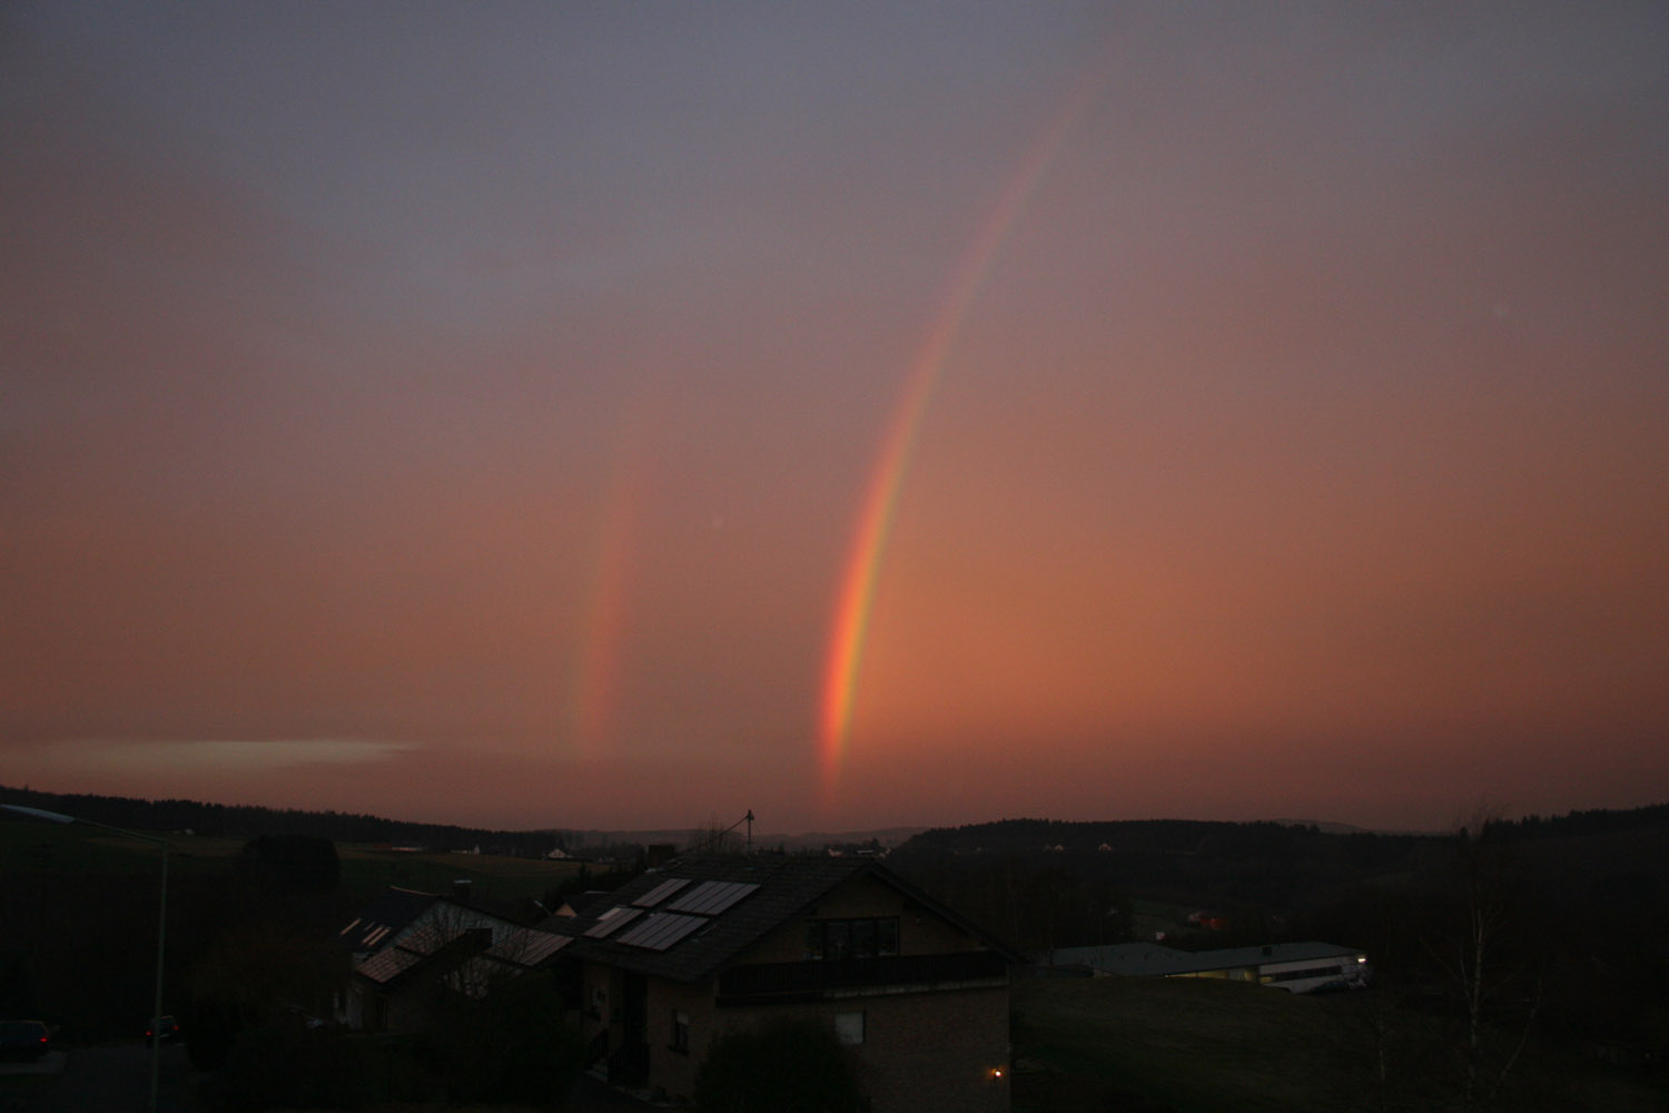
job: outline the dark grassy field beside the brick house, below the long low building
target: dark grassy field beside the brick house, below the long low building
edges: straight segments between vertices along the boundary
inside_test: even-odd
[[[1459,1106],[1437,1018],[1375,991],[1292,996],[1192,978],[1015,983],[1015,1113],[1359,1113]],[[1669,1108],[1662,1080],[1532,1050],[1515,1110]]]

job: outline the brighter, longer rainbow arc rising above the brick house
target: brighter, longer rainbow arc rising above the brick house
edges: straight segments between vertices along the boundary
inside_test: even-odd
[[[851,736],[851,718],[858,698],[858,676],[863,669],[863,651],[870,634],[875,609],[875,589],[880,581],[881,559],[893,531],[898,496],[910,471],[921,419],[933,399],[946,357],[956,342],[961,324],[973,305],[980,285],[991,270],[1003,240],[1025,207],[1026,197],[1043,177],[1043,170],[1060,150],[1078,117],[1095,98],[1102,67],[1082,80],[1055,115],[1043,135],[1031,145],[1010,177],[996,204],[980,224],[973,242],[955,270],[931,327],[910,364],[898,405],[888,421],[881,451],[870,472],[851,551],[840,581],[834,604],[834,621],[823,667],[823,701],[818,719],[818,754],[824,803],[831,803],[840,784],[840,771],[846,759]]]

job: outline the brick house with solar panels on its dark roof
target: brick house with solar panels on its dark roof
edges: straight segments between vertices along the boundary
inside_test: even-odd
[[[689,1098],[714,1036],[813,1015],[875,1113],[1008,1110],[1020,956],[875,858],[674,859],[561,929],[592,1060],[618,1085]]]

